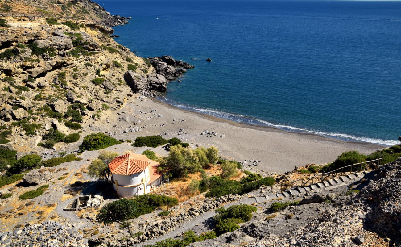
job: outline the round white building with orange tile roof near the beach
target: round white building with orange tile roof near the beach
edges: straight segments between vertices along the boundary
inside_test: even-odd
[[[157,173],[160,163],[146,155],[127,153],[115,157],[110,163],[111,181],[118,197],[133,197],[147,194],[151,186],[161,184]]]

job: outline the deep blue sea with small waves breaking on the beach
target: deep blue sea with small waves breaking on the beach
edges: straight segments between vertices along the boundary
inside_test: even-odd
[[[137,55],[196,66],[168,85],[170,104],[286,131],[399,143],[401,2],[97,2],[132,16],[115,34]]]

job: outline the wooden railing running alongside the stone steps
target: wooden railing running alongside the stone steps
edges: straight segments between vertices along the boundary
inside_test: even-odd
[[[361,163],[356,163],[356,164],[352,164],[352,165],[346,165],[344,167],[340,167],[338,169],[335,169],[335,170],[332,170],[332,171],[329,171],[326,173],[318,174],[318,175],[308,177],[308,178],[301,178],[298,180],[287,182],[285,184],[277,184],[277,185],[273,185],[273,186],[261,186],[260,187],[260,195],[262,196],[263,189],[270,190],[270,195],[272,195],[273,188],[280,187],[280,193],[283,193],[284,191],[294,188],[294,187],[309,186],[311,184],[314,184],[315,181],[322,183],[322,182],[324,182],[324,180],[337,178],[339,176],[344,176],[345,174],[352,174],[352,173],[356,173],[358,171],[362,171],[362,170],[366,170],[366,169],[370,170],[370,169],[372,169],[372,164],[375,164],[374,163],[375,161],[377,161],[377,164],[375,164],[377,167],[374,167],[374,168],[377,169],[377,168],[379,168],[379,162],[381,159],[382,158],[365,161],[365,162],[361,162]],[[367,164],[367,165],[365,165],[365,164]]]

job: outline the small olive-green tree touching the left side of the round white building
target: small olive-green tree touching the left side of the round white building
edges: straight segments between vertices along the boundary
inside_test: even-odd
[[[115,157],[117,157],[117,155],[117,152],[100,151],[97,159],[92,161],[92,163],[88,167],[89,176],[91,176],[92,178],[105,179],[107,183],[111,174],[109,163]]]

